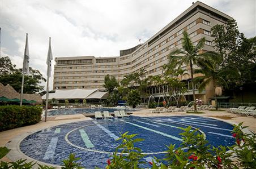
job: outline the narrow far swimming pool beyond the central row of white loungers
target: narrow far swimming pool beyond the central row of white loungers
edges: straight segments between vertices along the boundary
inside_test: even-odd
[[[113,113],[115,110],[125,110],[125,112],[134,112],[135,109],[118,109],[118,108],[72,108],[72,109],[53,109],[49,110],[48,115],[71,115],[71,114],[82,114],[82,113],[94,113],[96,111],[103,112],[109,111]]]

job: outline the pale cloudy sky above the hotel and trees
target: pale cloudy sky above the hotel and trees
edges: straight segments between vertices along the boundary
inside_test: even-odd
[[[22,68],[28,33],[29,66],[46,78],[49,37],[53,57],[120,56],[146,42],[192,5],[190,0],[0,0],[1,57]],[[255,0],[202,0],[236,19],[246,37],[256,35]],[[54,62],[55,63],[55,62]],[[53,86],[53,72],[50,77]],[[43,83],[44,85],[44,83]]]

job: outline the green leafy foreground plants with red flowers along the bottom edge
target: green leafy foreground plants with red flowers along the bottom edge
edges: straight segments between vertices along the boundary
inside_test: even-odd
[[[170,144],[167,146],[167,154],[164,159],[155,158],[151,164],[152,169],[165,168],[255,168],[256,166],[256,134],[244,134],[242,123],[234,125],[232,136],[235,144],[230,147],[211,146],[205,140],[204,135],[200,134],[198,129],[193,130],[191,127],[181,128],[184,130],[182,136],[182,144],[176,148],[176,145]],[[138,135],[128,135],[128,132],[122,134],[117,140],[122,140],[122,143],[117,147],[116,152],[106,161],[107,169],[117,168],[141,168],[140,164],[143,161],[144,154],[142,150],[134,146],[135,143],[143,141],[137,138]],[[0,154],[2,154],[0,149]],[[6,150],[5,150],[6,151]],[[5,152],[6,153],[6,152]],[[8,153],[8,152],[7,152]],[[82,168],[77,161],[80,158],[75,158],[75,154],[70,154],[69,159],[63,160],[64,166],[62,169]],[[164,164],[163,162],[167,163]],[[35,163],[26,163],[25,160],[16,162],[1,162],[0,168],[24,168],[29,169]],[[41,169],[54,167],[41,166]]]

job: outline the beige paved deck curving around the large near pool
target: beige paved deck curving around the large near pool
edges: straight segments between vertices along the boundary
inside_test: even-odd
[[[196,115],[196,116],[202,116],[202,117],[210,117],[210,118],[216,118],[221,121],[225,121],[232,124],[238,124],[241,122],[244,122],[244,126],[249,126],[248,129],[250,131],[256,132],[256,118],[253,118],[251,116],[245,117],[237,114],[228,113],[226,111],[209,111],[209,110],[202,110],[200,112],[204,112],[204,114],[187,114],[186,112],[173,112],[173,113],[150,113],[152,109],[139,109],[139,111],[136,111],[133,113],[135,116],[139,117],[153,117],[153,116],[173,116],[173,115]],[[37,124],[33,124],[31,126],[25,126],[25,127],[19,127],[12,130],[7,130],[0,132],[0,146],[7,146],[8,148],[11,148],[11,152],[6,155],[6,157],[3,157],[0,159],[0,161],[16,161],[20,158],[27,158],[28,161],[36,161],[34,159],[31,159],[24,155],[19,150],[19,143],[29,134],[32,134],[33,132],[42,130],[44,128],[57,126],[59,124],[65,124],[65,123],[72,123],[72,122],[79,122],[79,121],[87,121],[91,120],[92,118],[85,117],[82,114],[75,114],[75,115],[58,115],[55,117],[49,117],[47,122],[41,121]],[[38,161],[37,161],[38,162]],[[42,162],[38,162],[40,164],[46,164]],[[52,164],[48,164],[49,166],[54,166]],[[59,166],[54,166],[59,168]]]

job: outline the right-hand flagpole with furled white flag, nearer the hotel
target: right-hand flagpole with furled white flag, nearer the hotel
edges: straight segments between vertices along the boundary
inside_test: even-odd
[[[50,55],[52,55],[52,48],[50,46],[50,37],[49,37],[49,49],[48,49],[48,56],[47,56],[47,84],[46,84],[46,103],[45,103],[45,118],[44,121],[47,121],[47,112],[48,112],[48,99],[49,99],[49,77],[50,77],[50,66],[49,61],[51,60]]]

